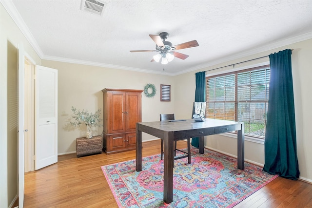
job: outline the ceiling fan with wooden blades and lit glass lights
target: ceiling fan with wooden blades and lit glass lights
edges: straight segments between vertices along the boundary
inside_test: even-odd
[[[196,40],[192,40],[189,42],[185,42],[185,43],[172,46],[171,42],[166,41],[166,39],[169,36],[169,33],[167,32],[162,32],[159,35],[149,35],[149,36],[156,43],[156,50],[138,50],[138,51],[130,51],[130,52],[158,52],[151,61],[159,62],[161,59],[162,64],[167,64],[170,61],[172,61],[174,57],[177,57],[183,60],[189,57],[189,55],[178,53],[176,52],[176,50],[198,46],[198,42]]]

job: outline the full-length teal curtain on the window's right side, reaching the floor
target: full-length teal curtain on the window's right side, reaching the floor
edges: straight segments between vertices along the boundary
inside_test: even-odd
[[[299,168],[291,55],[289,49],[269,55],[271,75],[263,170],[296,180]]]

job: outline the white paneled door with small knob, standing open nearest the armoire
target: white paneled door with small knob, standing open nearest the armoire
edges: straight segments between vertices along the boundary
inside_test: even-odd
[[[58,70],[36,66],[35,170],[58,162]]]

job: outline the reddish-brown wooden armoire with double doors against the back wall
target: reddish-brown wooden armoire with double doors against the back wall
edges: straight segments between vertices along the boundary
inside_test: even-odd
[[[106,154],[136,149],[136,126],[142,121],[142,90],[103,89]]]

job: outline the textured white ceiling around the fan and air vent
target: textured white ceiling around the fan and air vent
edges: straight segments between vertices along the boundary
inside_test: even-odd
[[[104,0],[103,17],[80,10],[80,0],[13,0],[43,59],[179,74],[276,42],[312,36],[312,0]],[[190,57],[151,62],[149,34],[170,34]],[[311,37],[310,37],[311,38]],[[31,38],[30,38],[31,39]]]

